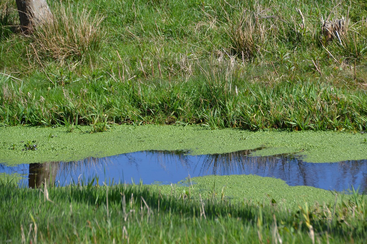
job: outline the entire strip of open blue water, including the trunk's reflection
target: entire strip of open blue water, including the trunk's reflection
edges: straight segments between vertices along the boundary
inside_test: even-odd
[[[39,187],[46,178],[48,184],[55,184],[56,177],[60,185],[64,185],[69,177],[76,183],[81,174],[80,180],[89,179],[93,174],[103,177],[103,172],[109,172],[110,166],[120,170],[129,165],[135,165],[137,171],[139,167],[148,169],[142,170],[141,177],[144,179],[144,174],[152,174],[149,171],[150,165],[158,164],[170,177],[182,171],[188,171],[192,177],[207,174],[256,174],[281,178],[289,185],[308,185],[338,191],[360,185],[360,192],[367,189],[367,160],[307,163],[294,155],[250,156],[255,150],[197,156],[189,155],[189,151],[143,151],[72,162],[30,164],[28,183],[31,188]],[[28,165],[7,167],[0,164],[0,172],[22,173],[24,170],[28,171]],[[165,173],[161,174],[161,181],[166,180]]]

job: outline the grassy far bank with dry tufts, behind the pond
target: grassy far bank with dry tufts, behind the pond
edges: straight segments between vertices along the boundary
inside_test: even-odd
[[[366,130],[362,0],[50,1],[62,14],[27,37],[2,4],[5,125]],[[333,40],[327,17],[346,20]]]

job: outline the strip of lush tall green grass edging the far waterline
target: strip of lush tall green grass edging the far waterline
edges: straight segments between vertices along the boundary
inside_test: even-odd
[[[241,67],[212,61],[195,66],[186,82],[91,79],[66,89],[0,80],[0,119],[7,125],[201,123],[211,128],[366,130],[364,91],[312,82],[293,73],[268,85],[241,77]],[[250,77],[249,77],[250,78]],[[292,78],[293,80],[289,80]],[[19,102],[20,101],[20,102]]]

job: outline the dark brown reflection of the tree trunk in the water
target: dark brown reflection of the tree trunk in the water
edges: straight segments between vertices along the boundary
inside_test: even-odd
[[[30,163],[29,164],[29,188],[41,187],[46,181],[47,185],[54,185],[59,162]]]

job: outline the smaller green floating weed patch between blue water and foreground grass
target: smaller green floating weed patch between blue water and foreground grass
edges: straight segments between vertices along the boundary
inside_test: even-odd
[[[189,187],[190,185],[190,191]],[[231,202],[248,202],[253,204],[269,205],[277,203],[285,208],[297,208],[305,202],[330,204],[335,202],[335,193],[312,186],[289,186],[285,181],[261,177],[258,175],[207,175],[193,177],[191,181],[183,180],[176,185],[152,186],[162,194],[176,196],[196,196],[203,199],[216,197]],[[348,197],[348,195],[345,195]]]

